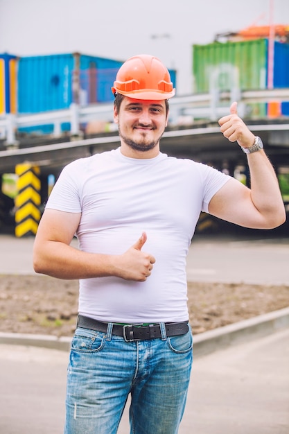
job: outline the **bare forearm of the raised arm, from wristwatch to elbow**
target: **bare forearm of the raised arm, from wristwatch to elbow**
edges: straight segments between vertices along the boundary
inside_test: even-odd
[[[286,214],[274,168],[263,150],[248,154],[247,159],[254,207],[268,228],[279,226]]]

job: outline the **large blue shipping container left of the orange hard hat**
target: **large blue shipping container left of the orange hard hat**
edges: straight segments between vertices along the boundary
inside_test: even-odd
[[[72,102],[112,101],[112,76],[121,64],[79,53],[22,57],[18,68],[18,112],[64,109]]]

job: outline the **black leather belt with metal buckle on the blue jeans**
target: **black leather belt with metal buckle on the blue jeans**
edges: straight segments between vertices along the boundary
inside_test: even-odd
[[[91,329],[106,333],[108,322],[101,322],[87,316],[78,315],[77,327]],[[189,331],[188,321],[165,322],[166,336],[184,335]],[[126,342],[132,340],[146,340],[161,338],[161,327],[159,324],[138,325],[138,324],[113,324],[112,334],[123,336]]]

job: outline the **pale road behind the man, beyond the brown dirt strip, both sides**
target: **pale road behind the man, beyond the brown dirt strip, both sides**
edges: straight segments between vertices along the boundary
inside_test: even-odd
[[[34,237],[0,235],[0,273],[33,271]],[[73,246],[77,247],[76,239]],[[189,281],[249,284],[289,284],[289,236],[258,239],[249,236],[196,236],[189,249]]]

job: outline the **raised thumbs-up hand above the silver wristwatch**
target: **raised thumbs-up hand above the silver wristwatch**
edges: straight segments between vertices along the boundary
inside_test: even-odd
[[[230,114],[219,120],[220,131],[229,141],[237,141],[243,148],[249,148],[254,145],[255,136],[238,116],[237,105],[232,103]]]

